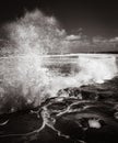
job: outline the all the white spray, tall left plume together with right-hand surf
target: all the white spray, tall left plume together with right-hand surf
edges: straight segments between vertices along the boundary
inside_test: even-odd
[[[76,54],[70,62],[70,74],[63,75],[48,65],[62,66],[62,54],[67,46],[66,31],[56,19],[36,10],[27,12],[16,22],[4,25],[9,44],[4,47],[9,55],[0,58],[0,112],[11,112],[40,105],[45,99],[57,96],[59,89],[104,82],[117,74],[116,57],[106,55]],[[56,58],[48,56],[59,54]],[[45,57],[45,58],[44,58]],[[66,64],[66,63],[64,63]],[[75,67],[74,67],[75,66]],[[74,70],[76,68],[76,70]],[[74,72],[73,72],[74,70]]]

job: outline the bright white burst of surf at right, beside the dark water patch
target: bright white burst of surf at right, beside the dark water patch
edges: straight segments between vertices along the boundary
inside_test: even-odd
[[[102,84],[105,80],[111,79],[117,75],[117,57],[115,55],[106,54],[93,54],[93,55],[80,55],[79,67],[79,79],[86,82],[98,82]]]

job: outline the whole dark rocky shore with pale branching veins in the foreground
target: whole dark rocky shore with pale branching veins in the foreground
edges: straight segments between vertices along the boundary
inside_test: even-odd
[[[39,107],[0,116],[0,143],[117,143],[118,78],[60,89]]]

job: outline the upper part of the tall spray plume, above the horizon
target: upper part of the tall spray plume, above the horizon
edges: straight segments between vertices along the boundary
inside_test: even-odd
[[[54,16],[46,16],[39,10],[26,12],[16,22],[4,25],[7,36],[16,54],[47,54],[62,51],[66,31],[60,29]],[[12,51],[13,47],[10,50]]]

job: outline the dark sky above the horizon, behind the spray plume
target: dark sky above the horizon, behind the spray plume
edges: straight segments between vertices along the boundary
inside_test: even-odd
[[[93,51],[110,51],[110,46],[103,50],[105,43],[118,41],[118,9],[114,0],[1,0],[0,1],[0,24],[15,21],[23,16],[28,10],[39,9],[47,15],[54,15],[67,31],[67,41],[75,45],[80,44],[80,30],[87,37],[94,38],[98,45],[97,37],[104,37],[104,43]],[[76,42],[75,42],[75,41]],[[74,41],[74,42],[73,42]],[[84,51],[90,48],[87,44]],[[109,43],[108,43],[109,44]],[[81,43],[80,51],[83,51]],[[118,51],[117,46],[111,45],[113,51]],[[91,48],[92,51],[92,48]]]

